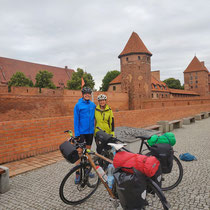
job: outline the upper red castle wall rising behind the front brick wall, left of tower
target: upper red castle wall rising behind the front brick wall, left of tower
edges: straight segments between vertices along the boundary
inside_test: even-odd
[[[96,104],[101,93],[93,93]],[[126,93],[105,94],[113,111],[128,110]],[[38,88],[13,87],[8,93],[7,87],[0,87],[0,122],[73,115],[81,96],[80,90],[42,89],[39,93]]]

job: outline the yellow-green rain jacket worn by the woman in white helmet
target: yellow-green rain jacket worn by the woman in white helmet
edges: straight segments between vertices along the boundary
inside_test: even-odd
[[[106,133],[114,136],[114,115],[111,108],[107,104],[104,110],[101,110],[99,105],[96,107],[95,123],[95,134],[98,131],[96,127],[99,127]]]

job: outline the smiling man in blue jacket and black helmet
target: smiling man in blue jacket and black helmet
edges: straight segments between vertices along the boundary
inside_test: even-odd
[[[74,107],[74,134],[79,142],[86,142],[86,147],[91,148],[95,128],[95,108],[96,105],[90,101],[92,90],[89,87],[82,89],[82,98]],[[81,149],[78,149],[81,153]],[[79,161],[76,163],[78,164]],[[76,173],[75,184],[80,181],[79,172]]]

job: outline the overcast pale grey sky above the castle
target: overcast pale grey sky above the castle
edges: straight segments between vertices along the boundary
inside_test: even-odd
[[[183,83],[195,55],[210,70],[209,0],[0,0],[0,57],[83,68],[96,88],[133,31],[161,80]]]

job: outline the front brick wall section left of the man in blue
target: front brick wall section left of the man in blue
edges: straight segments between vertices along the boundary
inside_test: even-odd
[[[71,116],[0,122],[0,163],[58,149],[72,126]]]

